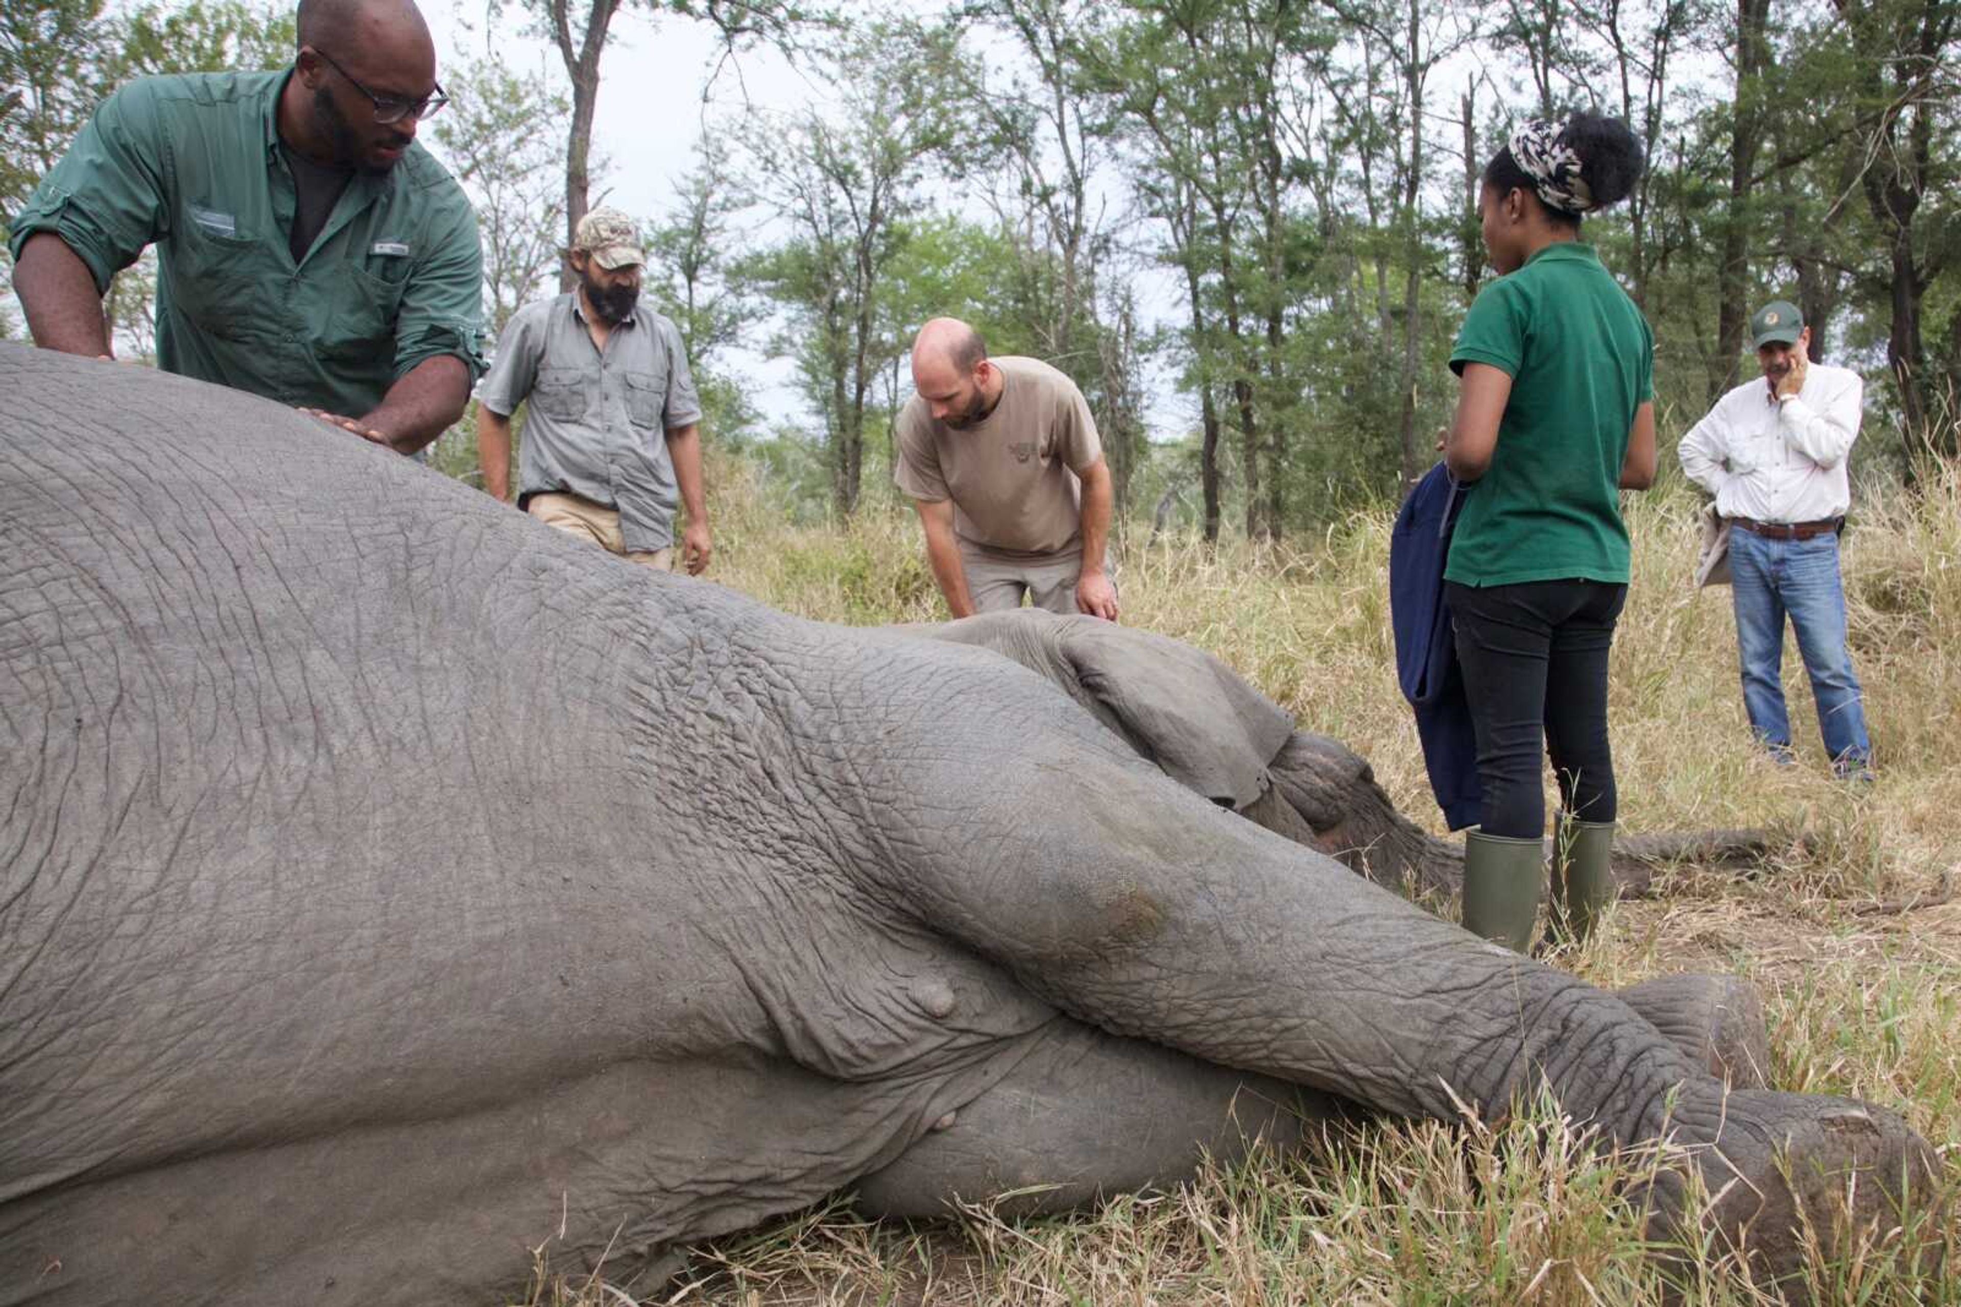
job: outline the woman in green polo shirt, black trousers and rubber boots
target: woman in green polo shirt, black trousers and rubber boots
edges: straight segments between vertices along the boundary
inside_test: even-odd
[[[1620,120],[1528,121],[1486,165],[1479,292],[1451,353],[1443,457],[1473,482],[1443,568],[1477,735],[1483,825],[1465,841],[1465,929],[1524,950],[1539,905],[1545,794],[1565,807],[1555,921],[1590,929],[1612,894],[1606,658],[1628,596],[1620,490],[1655,478],[1655,339],[1581,235],[1622,200],[1641,145]]]

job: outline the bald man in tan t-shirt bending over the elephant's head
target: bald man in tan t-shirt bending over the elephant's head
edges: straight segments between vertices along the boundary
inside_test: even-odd
[[[1077,384],[1037,359],[988,359],[979,331],[935,317],[912,343],[912,386],[892,480],[953,615],[1026,598],[1116,621],[1110,466]]]

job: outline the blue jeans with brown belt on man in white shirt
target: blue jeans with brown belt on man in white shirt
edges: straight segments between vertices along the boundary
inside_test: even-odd
[[[1798,633],[1798,654],[1812,678],[1826,752],[1839,772],[1871,762],[1859,678],[1845,649],[1845,590],[1837,570],[1837,533],[1808,541],[1771,541],[1730,529],[1730,570],[1735,592],[1735,643],[1743,668],[1743,709],[1749,727],[1777,752],[1790,750],[1785,711],[1785,613]]]

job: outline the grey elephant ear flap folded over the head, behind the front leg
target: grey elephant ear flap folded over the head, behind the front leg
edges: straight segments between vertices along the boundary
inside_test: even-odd
[[[1167,776],[1233,811],[1267,792],[1267,764],[1292,739],[1294,721],[1230,666],[1096,617],[1061,617],[1055,635],[1098,715],[1116,719]]]

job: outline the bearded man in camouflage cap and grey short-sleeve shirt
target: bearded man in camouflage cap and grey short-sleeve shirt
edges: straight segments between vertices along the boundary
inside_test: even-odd
[[[708,566],[702,406],[673,321],[639,302],[647,257],[633,219],[598,208],[567,251],[578,288],[512,314],[478,392],[484,490],[510,500],[510,419],[528,402],[518,508],[657,570]]]

